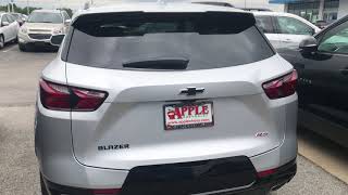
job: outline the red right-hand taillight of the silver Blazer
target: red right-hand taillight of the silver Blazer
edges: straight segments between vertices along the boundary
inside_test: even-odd
[[[297,78],[297,72],[293,70],[288,75],[263,83],[262,88],[271,100],[289,96],[296,92]]]

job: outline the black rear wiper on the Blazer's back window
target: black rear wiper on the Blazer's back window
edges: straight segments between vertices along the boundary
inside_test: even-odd
[[[123,67],[127,68],[147,68],[147,69],[186,69],[188,60],[149,60],[123,63]]]

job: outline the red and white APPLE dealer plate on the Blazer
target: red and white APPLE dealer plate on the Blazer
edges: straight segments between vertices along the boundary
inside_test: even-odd
[[[214,126],[212,102],[164,105],[164,129],[190,129]]]

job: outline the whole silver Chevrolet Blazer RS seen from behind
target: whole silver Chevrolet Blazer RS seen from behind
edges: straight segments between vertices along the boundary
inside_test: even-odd
[[[296,80],[249,12],[184,2],[78,12],[39,84],[42,192],[277,190],[296,173]]]

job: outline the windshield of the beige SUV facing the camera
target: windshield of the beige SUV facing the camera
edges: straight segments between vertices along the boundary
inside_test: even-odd
[[[34,12],[30,14],[27,22],[60,24],[60,23],[63,23],[63,18],[59,13]]]

